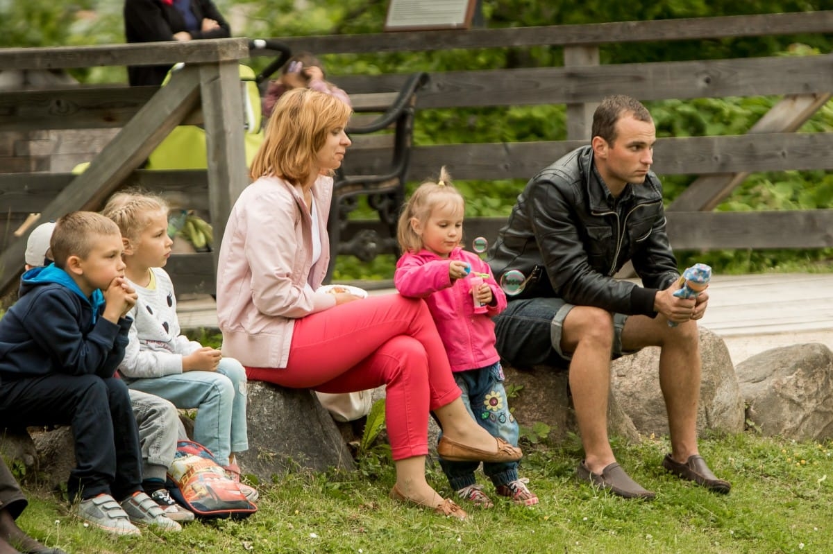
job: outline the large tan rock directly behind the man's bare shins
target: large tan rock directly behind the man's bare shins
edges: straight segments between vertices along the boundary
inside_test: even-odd
[[[613,362],[613,394],[640,433],[668,433],[666,404],[660,389],[660,352],[649,347]],[[741,388],[726,344],[700,328],[702,361],[697,433],[741,433],[744,407]],[[682,369],[682,368],[681,368]]]

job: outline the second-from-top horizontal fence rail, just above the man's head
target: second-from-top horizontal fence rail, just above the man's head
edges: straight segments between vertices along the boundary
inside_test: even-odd
[[[398,90],[406,75],[339,77],[352,92]],[[833,54],[693,62],[620,63],[435,72],[416,95],[419,108],[514,106],[600,101],[627,94],[641,101],[807,94],[833,90]]]

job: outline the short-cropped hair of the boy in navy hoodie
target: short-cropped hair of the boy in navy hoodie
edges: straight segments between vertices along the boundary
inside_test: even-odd
[[[55,222],[49,240],[52,261],[64,269],[70,256],[85,260],[96,241],[106,235],[119,235],[118,226],[112,220],[94,211],[72,211]]]

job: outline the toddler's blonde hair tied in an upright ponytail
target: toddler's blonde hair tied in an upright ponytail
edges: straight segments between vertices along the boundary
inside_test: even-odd
[[[399,248],[402,252],[419,252],[423,247],[422,238],[413,230],[411,220],[416,218],[417,221],[425,223],[437,207],[449,205],[452,202],[459,202],[461,206],[465,205],[463,195],[451,183],[451,176],[448,175],[446,166],[442,166],[440,178],[436,182],[423,181],[402,208],[397,225],[397,240],[399,240]]]

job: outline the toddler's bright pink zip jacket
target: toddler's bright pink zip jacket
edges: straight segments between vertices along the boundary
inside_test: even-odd
[[[471,274],[485,273],[491,288],[494,305],[485,314],[474,313],[471,281],[448,276],[451,260],[462,260],[471,265]],[[495,324],[491,317],[506,308],[506,294],[495,282],[489,265],[479,256],[457,247],[448,258],[441,258],[429,250],[405,254],[397,262],[393,277],[399,294],[423,298],[446,347],[451,371],[484,368],[500,360],[495,349]]]

